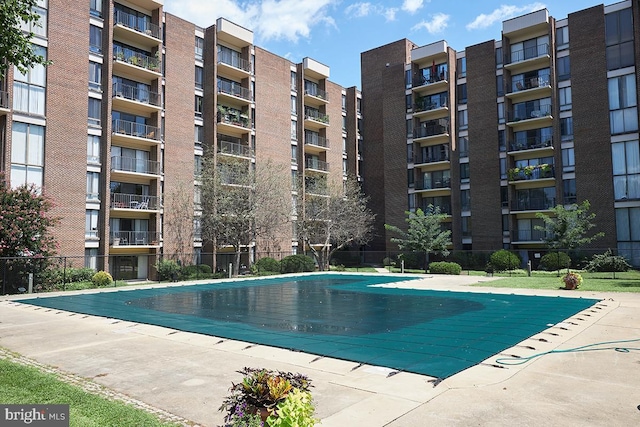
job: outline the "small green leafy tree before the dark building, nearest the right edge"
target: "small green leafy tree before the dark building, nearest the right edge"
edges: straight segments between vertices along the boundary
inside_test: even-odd
[[[536,225],[535,229],[546,233],[544,241],[550,249],[575,249],[589,244],[604,236],[603,232],[587,235],[596,226],[593,223],[596,214],[589,213],[590,208],[591,204],[585,200],[568,208],[557,205],[550,215],[538,212],[536,217],[544,221],[544,225]]]

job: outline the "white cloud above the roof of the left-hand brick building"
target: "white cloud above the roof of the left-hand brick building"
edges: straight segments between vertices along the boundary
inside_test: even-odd
[[[307,38],[311,28],[335,26],[330,7],[339,0],[165,0],[165,11],[201,27],[219,17],[253,30],[261,41]]]

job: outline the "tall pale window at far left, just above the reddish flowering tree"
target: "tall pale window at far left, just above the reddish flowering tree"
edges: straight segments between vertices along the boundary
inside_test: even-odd
[[[44,127],[13,122],[11,140],[11,186],[35,184],[42,187]]]

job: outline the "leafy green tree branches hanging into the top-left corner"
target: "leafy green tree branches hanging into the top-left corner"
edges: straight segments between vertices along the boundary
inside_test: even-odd
[[[37,0],[2,0],[0,2],[0,80],[11,64],[22,73],[36,64],[48,65],[50,61],[36,55],[31,45],[33,32],[25,32],[23,27],[41,26],[40,15],[33,12]]]

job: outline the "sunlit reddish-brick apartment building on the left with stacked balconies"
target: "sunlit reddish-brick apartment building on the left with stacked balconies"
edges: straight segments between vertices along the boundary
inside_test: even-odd
[[[42,26],[25,29],[53,65],[0,82],[0,171],[53,199],[59,253],[75,266],[133,279],[153,277],[160,254],[197,258],[205,147],[219,162],[270,159],[287,182],[358,175],[360,93],[328,66],[274,55],[223,18],[199,28],[161,0],[40,0],[36,11]],[[313,193],[302,191],[283,203]],[[292,227],[277,240],[297,251]]]

